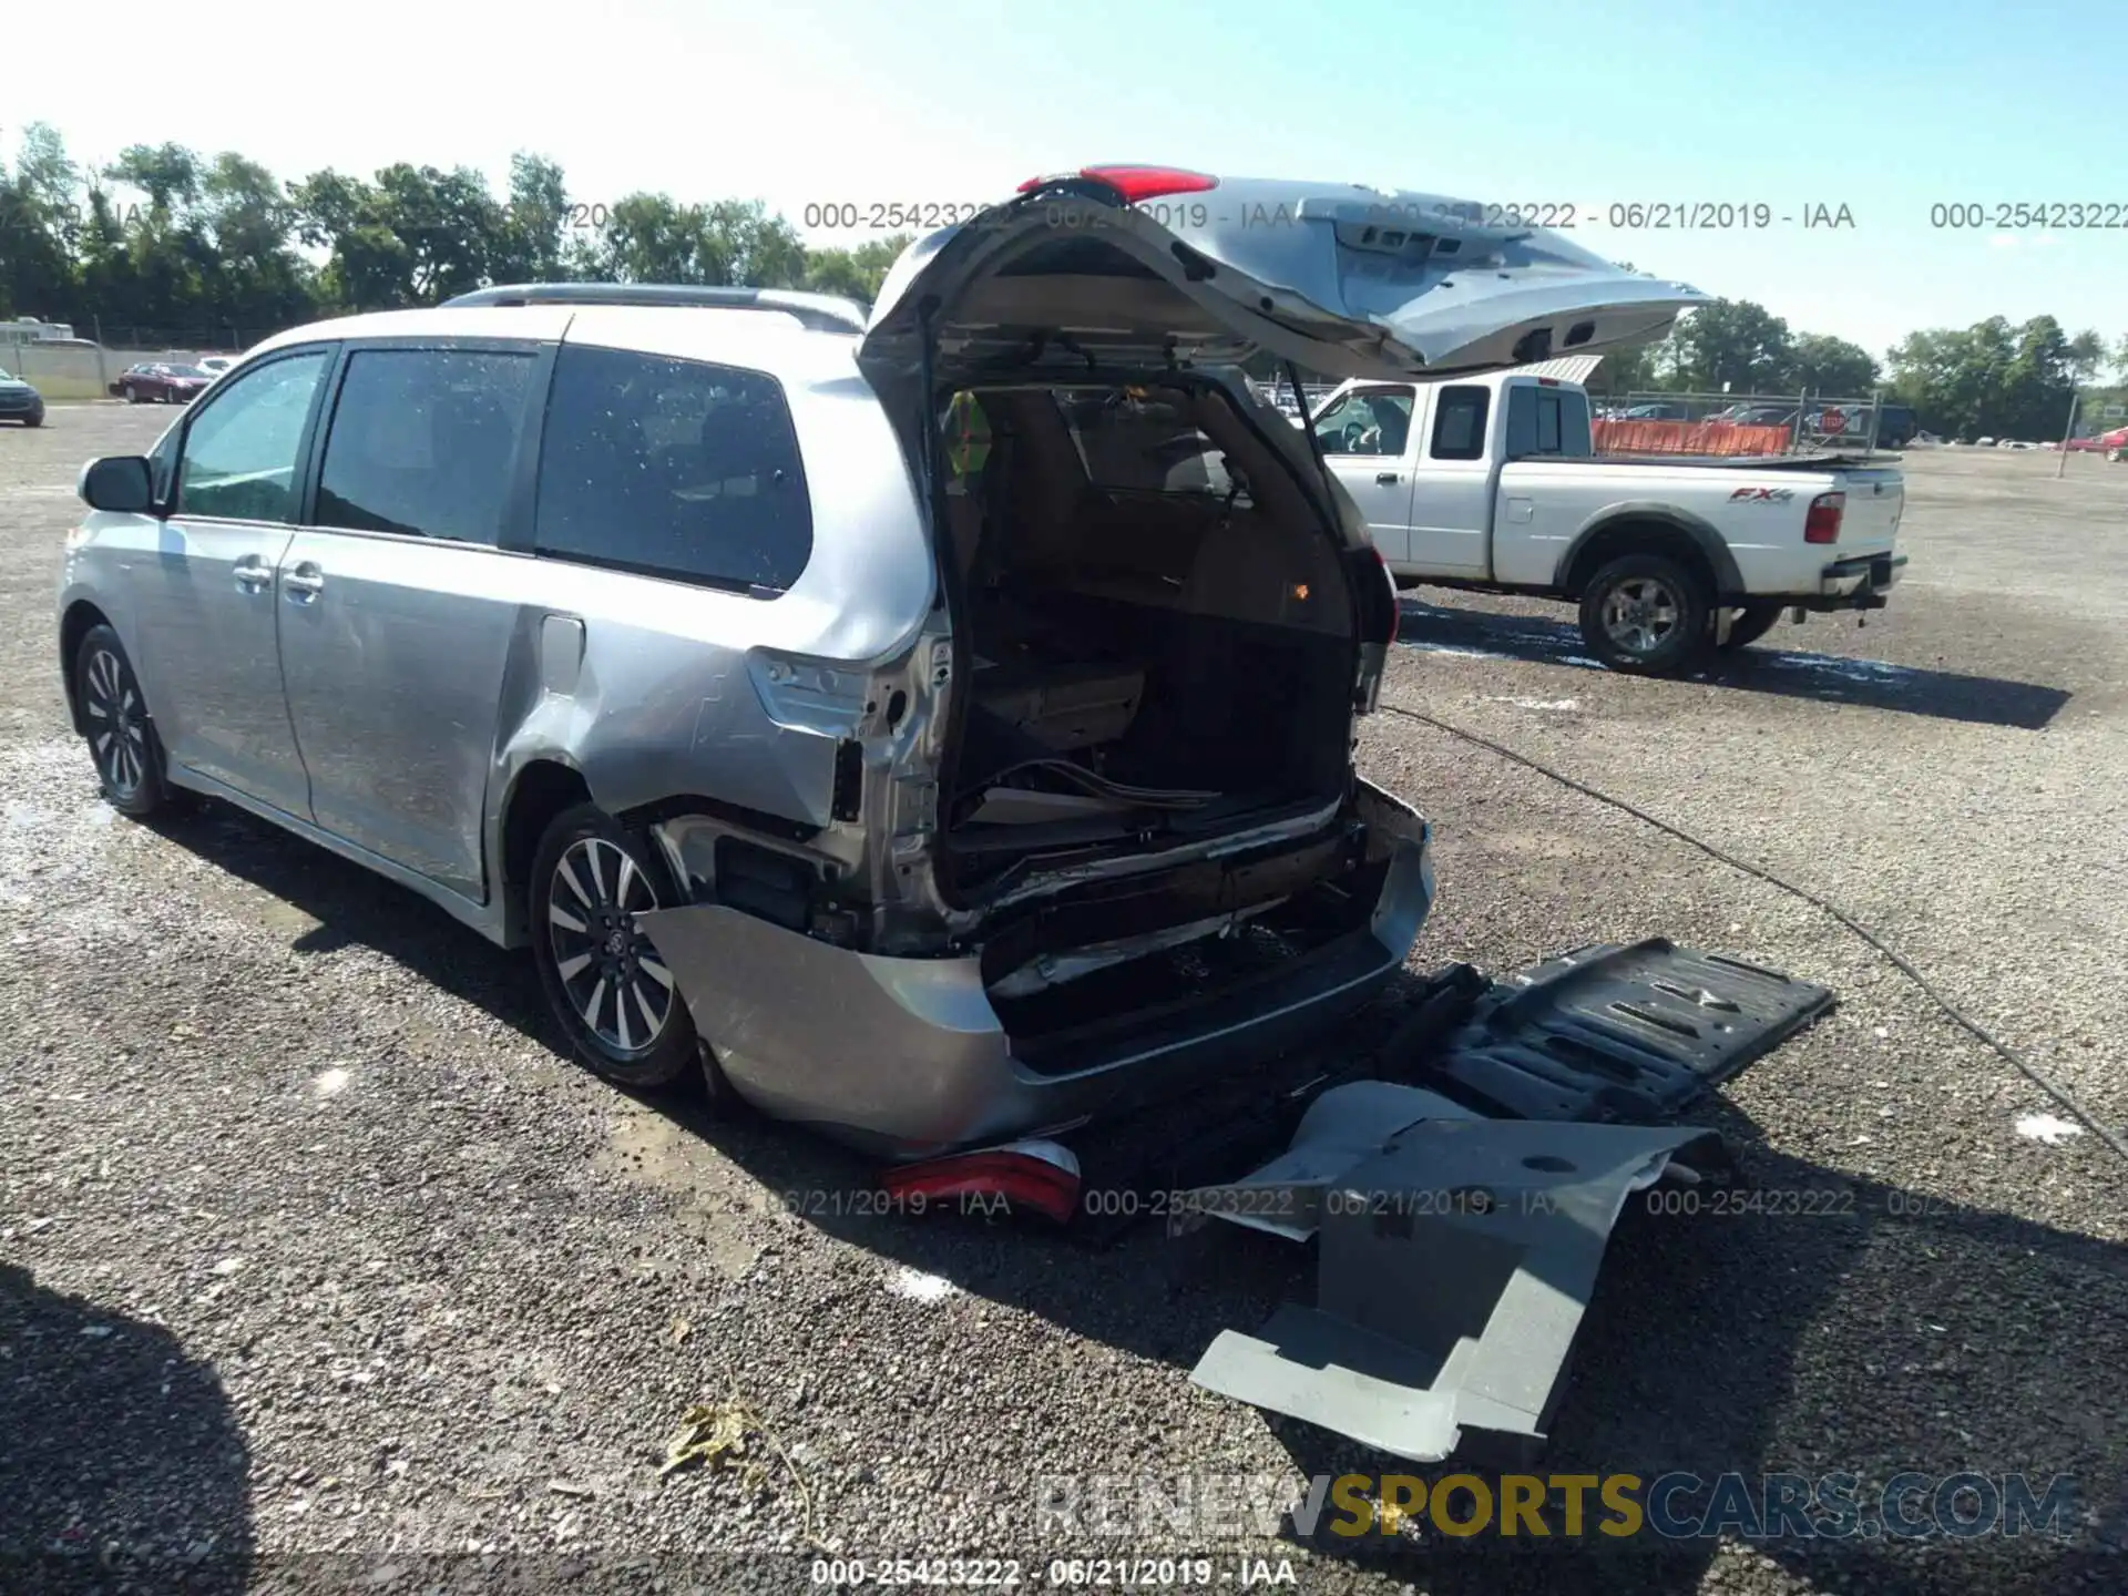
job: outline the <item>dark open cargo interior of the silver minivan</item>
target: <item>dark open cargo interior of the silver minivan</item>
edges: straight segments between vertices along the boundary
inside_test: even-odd
[[[1207,836],[1347,779],[1353,611],[1321,511],[1217,385],[996,387],[953,413],[970,672],[947,890]],[[979,428],[979,432],[977,432]]]

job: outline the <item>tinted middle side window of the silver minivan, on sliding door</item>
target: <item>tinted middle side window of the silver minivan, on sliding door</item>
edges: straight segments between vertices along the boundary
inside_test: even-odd
[[[326,432],[317,526],[494,543],[532,351],[355,349]]]

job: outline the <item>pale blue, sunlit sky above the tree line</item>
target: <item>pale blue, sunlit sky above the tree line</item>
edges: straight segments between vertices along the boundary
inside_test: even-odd
[[[2128,334],[2128,89],[2085,4],[1641,0],[98,0],[100,53],[0,70],[0,149],[236,149],[279,177],[553,157],[585,206],[651,189],[966,206],[1098,162],[1573,206],[1573,236],[1873,355],[1913,328],[2051,313]],[[323,19],[332,15],[330,30]],[[155,47],[151,47],[155,43]],[[1662,206],[1768,226],[1653,228]],[[2019,226],[2007,206],[2036,206]],[[2047,215],[2083,204],[2085,223]],[[1819,206],[1824,209],[1819,213]],[[1811,215],[1851,226],[1805,226]],[[1958,206],[1939,211],[1936,206]],[[587,211],[587,217],[596,217]],[[830,213],[832,215],[832,213]],[[1966,223],[1966,226],[1951,226]],[[1977,223],[1977,226],[1973,226]],[[2002,223],[2002,226],[1998,226]]]

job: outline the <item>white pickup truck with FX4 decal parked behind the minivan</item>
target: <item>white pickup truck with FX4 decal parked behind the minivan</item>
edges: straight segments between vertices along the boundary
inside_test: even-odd
[[[1845,455],[1598,460],[1579,383],[1351,381],[1309,421],[1398,587],[1581,604],[1613,670],[1668,675],[1783,611],[1883,609],[1905,479]]]

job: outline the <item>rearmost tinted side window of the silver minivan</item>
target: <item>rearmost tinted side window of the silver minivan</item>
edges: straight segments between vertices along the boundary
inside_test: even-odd
[[[562,345],[534,547],[717,587],[792,587],[813,555],[813,506],[783,387],[755,370]]]

